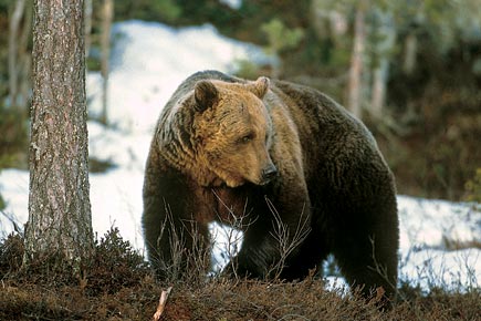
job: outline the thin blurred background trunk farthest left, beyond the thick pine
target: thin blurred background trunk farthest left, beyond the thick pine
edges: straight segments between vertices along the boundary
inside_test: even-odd
[[[25,0],[17,0],[13,13],[10,17],[9,28],[9,94],[10,104],[17,106],[19,95],[19,69],[18,69],[18,40],[20,34],[20,23],[25,11]]]

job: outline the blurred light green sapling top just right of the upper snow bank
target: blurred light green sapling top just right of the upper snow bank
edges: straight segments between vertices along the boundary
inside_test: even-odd
[[[278,18],[263,23],[261,30],[268,37],[268,51],[271,53],[293,49],[304,38],[304,31],[301,28],[290,29]]]

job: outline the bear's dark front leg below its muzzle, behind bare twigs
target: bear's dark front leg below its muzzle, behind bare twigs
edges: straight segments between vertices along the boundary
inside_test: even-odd
[[[300,193],[301,191],[301,193]],[[283,270],[295,261],[300,247],[311,230],[307,193],[302,189],[290,196],[266,196],[254,208],[258,215],[244,230],[239,253],[224,268],[223,275],[249,278],[283,278]],[[259,211],[259,208],[262,208]]]

